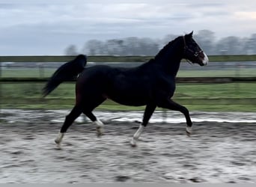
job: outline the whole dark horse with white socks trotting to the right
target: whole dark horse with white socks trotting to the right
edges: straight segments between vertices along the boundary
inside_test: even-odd
[[[86,68],[85,55],[78,55],[73,61],[62,65],[47,82],[43,89],[44,96],[61,82],[79,77],[76,81],[76,105],[66,116],[55,143],[61,144],[64,133],[82,113],[96,125],[98,135],[102,135],[104,125],[92,111],[106,99],[121,105],[146,106],[142,123],[133,135],[132,146],[136,145],[156,107],[183,113],[186,117],[186,133],[190,134],[192,121],[189,110],[171,99],[175,91],[175,77],[183,58],[201,66],[208,63],[207,55],[192,38],[192,33],[172,40],[155,58],[138,67],[96,65]]]

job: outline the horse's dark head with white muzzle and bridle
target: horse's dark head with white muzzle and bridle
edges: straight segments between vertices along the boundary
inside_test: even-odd
[[[183,37],[184,41],[184,54],[183,58],[191,61],[193,64],[199,64],[200,66],[207,65],[209,59],[204,51],[198,46],[198,43],[192,38],[193,31],[190,34],[186,34]]]

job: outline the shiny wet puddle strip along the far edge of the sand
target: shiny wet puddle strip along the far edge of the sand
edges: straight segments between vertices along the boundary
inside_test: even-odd
[[[52,123],[63,123],[68,110],[19,110],[1,109],[1,119],[8,123],[15,123],[17,120],[32,123],[34,120],[51,119]],[[143,111],[94,111],[94,114],[101,120],[115,120],[121,122],[141,121]],[[191,111],[193,122],[227,122],[227,123],[256,123],[256,112],[207,112]],[[76,119],[84,122],[85,116],[82,114]],[[151,123],[185,123],[183,114],[177,111],[155,111],[150,118]]]

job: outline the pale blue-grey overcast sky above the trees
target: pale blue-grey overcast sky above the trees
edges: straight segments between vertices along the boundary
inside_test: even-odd
[[[216,39],[256,33],[252,0],[0,0],[0,55],[64,55],[91,39],[162,39],[207,29]]]

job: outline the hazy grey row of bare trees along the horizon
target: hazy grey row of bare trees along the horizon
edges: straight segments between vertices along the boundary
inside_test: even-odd
[[[111,40],[88,40],[79,51],[75,45],[67,46],[65,55],[156,55],[163,46],[178,37],[168,34],[162,39],[149,37],[126,37]],[[207,55],[255,55],[256,34],[249,37],[223,37],[216,40],[215,33],[209,30],[198,31],[194,38]]]

